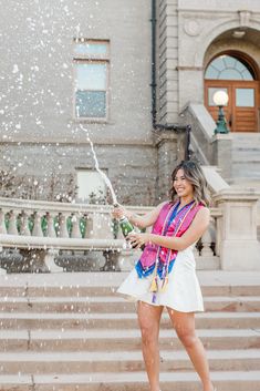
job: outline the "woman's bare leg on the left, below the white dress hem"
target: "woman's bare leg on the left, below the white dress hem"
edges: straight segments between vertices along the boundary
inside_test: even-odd
[[[159,321],[163,307],[138,301],[137,313],[142,332],[142,350],[150,391],[159,391]]]

